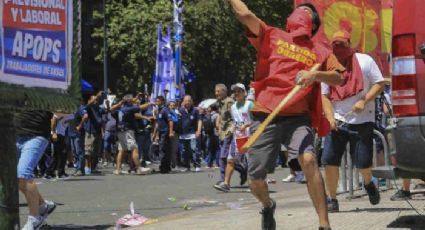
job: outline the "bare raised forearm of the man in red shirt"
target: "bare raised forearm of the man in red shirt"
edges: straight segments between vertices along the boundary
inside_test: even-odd
[[[262,21],[252,13],[241,0],[228,0],[238,20],[244,24],[255,36],[260,35]]]

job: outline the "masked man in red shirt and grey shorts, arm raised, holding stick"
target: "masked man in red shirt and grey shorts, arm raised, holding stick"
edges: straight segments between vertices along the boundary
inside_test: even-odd
[[[316,9],[310,4],[298,6],[287,20],[286,30],[266,25],[240,0],[228,0],[247,36],[257,50],[253,129],[265,120],[280,101],[294,88],[303,90],[282,110],[248,150],[248,176],[253,195],[263,209],[262,229],[276,229],[276,202],[269,197],[265,182],[273,173],[281,144],[298,157],[307,178],[307,188],[319,215],[319,229],[330,229],[325,189],[313,149],[313,129],[322,129],[320,82],[343,83],[345,69],[331,51],[311,40],[320,26]],[[319,71],[308,71],[320,64]]]

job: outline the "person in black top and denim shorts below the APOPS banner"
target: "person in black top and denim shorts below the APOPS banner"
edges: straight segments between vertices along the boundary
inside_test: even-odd
[[[45,200],[33,179],[33,171],[49,144],[51,135],[56,135],[53,113],[48,111],[25,111],[14,119],[18,155],[18,187],[25,195],[29,215],[23,230],[41,229],[47,216],[56,208],[52,201]]]

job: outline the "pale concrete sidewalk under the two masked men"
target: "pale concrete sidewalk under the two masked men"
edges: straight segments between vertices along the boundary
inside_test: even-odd
[[[280,183],[280,182],[277,182]],[[273,185],[270,186],[273,190]],[[425,229],[425,216],[419,216],[406,201],[390,201],[395,190],[381,191],[381,203],[369,204],[367,196],[349,200],[347,194],[339,195],[340,212],[330,214],[332,229],[380,230],[380,229]],[[271,197],[277,201],[277,229],[318,229],[318,219],[307,194],[305,185],[289,192],[276,190]],[[355,195],[360,195],[360,191]],[[425,196],[415,195],[410,200],[421,214],[425,214]],[[137,230],[217,230],[261,229],[259,204],[254,200],[236,200],[217,207],[189,210],[181,214],[165,216],[158,222],[143,225]]]

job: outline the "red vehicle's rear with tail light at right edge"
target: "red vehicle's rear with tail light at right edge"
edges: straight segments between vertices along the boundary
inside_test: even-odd
[[[425,179],[425,1],[394,0],[392,129],[398,177]]]

